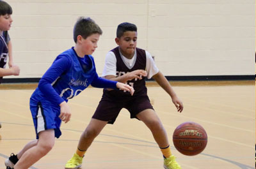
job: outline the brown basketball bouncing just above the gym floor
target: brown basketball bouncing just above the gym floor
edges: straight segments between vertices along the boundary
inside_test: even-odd
[[[173,144],[181,154],[195,156],[204,151],[207,145],[207,133],[196,122],[184,122],[173,132]]]

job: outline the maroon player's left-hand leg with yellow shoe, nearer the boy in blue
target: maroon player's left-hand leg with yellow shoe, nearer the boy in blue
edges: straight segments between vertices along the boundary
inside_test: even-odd
[[[74,156],[69,159],[65,165],[66,169],[79,168],[83,162],[83,156],[87,149],[92,144],[94,138],[99,135],[100,131],[106,126],[107,121],[99,121],[97,119],[91,119],[87,128],[80,136],[80,140],[77,146],[77,151]]]

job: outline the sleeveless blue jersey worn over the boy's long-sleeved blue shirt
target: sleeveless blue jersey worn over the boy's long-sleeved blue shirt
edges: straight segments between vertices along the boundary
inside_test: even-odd
[[[74,98],[81,91],[86,89],[92,81],[96,73],[95,62],[92,55],[85,55],[87,57],[86,60],[91,62],[92,67],[88,71],[84,71],[81,66],[79,59],[77,58],[76,52],[73,48],[70,48],[58,55],[58,57],[54,60],[56,62],[61,57],[67,57],[67,61],[70,62],[70,67],[68,70],[63,72],[60,77],[56,78],[54,82],[52,82],[53,89],[58,93],[58,95],[67,101],[68,99]],[[54,62],[52,64],[54,64]],[[49,97],[49,96],[47,96]],[[40,100],[40,99],[48,99],[45,95],[40,91],[40,89],[36,88],[35,92],[32,94],[31,99]]]

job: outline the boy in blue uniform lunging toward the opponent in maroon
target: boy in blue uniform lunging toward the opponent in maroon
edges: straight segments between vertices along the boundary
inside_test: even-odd
[[[70,120],[68,99],[89,85],[119,88],[133,94],[134,89],[127,84],[98,77],[91,54],[97,48],[101,34],[102,30],[91,18],[77,20],[74,26],[75,47],[56,57],[30,98],[36,140],[27,143],[17,155],[11,154],[5,161],[7,168],[29,168],[51,151],[54,137],[61,135],[61,121]]]

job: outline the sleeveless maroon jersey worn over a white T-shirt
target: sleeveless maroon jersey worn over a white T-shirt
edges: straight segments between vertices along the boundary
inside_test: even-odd
[[[111,50],[115,56],[116,56],[116,77],[120,77],[122,75],[125,75],[127,72],[131,72],[134,70],[145,70],[146,69],[146,64],[147,64],[147,57],[146,57],[146,52],[145,50],[141,48],[136,48],[136,61],[134,66],[129,69],[125,65],[124,61],[122,60],[122,57],[119,52],[119,48],[113,48]],[[127,84],[131,85],[135,92],[134,96],[136,95],[143,95],[147,96],[147,87],[145,85],[145,77],[142,77],[141,80],[135,78],[132,80],[129,80]],[[118,96],[124,96],[124,95],[130,95],[129,92],[124,92],[124,91],[118,91]],[[131,96],[131,95],[130,95]]]

